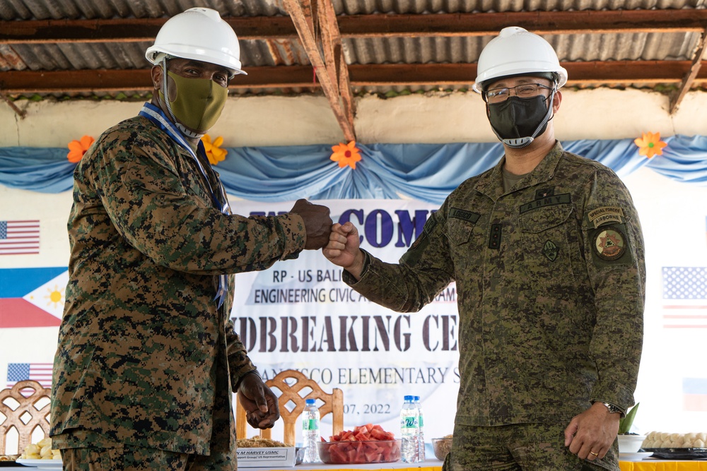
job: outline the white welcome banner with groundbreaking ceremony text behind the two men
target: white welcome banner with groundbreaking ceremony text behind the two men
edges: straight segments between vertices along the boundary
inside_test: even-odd
[[[334,222],[353,222],[361,248],[391,263],[437,209],[405,200],[317,203],[331,208]],[[233,210],[274,215],[292,204],[236,201]],[[403,396],[419,395],[430,441],[451,434],[454,424],[459,388],[456,301],[452,282],[421,311],[398,313],[346,285],[341,268],[322,251],[303,251],[269,270],[237,275],[231,318],[264,378],[297,369],[326,392],[341,388],[345,430],[373,423],[399,437]],[[322,419],[325,439],[330,424],[329,417]],[[249,430],[248,436],[255,433]]]

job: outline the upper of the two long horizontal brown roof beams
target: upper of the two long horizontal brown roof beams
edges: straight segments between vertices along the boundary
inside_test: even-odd
[[[0,21],[0,44],[151,41],[167,18]],[[224,18],[241,40],[294,39],[286,16]],[[337,16],[344,39],[356,37],[493,36],[508,25],[539,34],[704,30],[705,9],[523,11]]]

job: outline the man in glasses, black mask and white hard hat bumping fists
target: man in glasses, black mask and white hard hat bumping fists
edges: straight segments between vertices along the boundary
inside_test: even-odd
[[[456,281],[460,390],[444,470],[619,470],[643,341],[638,215],[612,170],[555,140],[567,73],[549,43],[504,28],[478,70],[501,162],[455,189],[398,264],[359,249],[350,222],[334,225],[325,256],[395,311]]]

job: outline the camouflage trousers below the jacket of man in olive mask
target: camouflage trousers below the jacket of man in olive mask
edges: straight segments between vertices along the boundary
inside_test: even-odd
[[[110,448],[65,448],[64,471],[230,471],[238,470],[235,453],[187,455],[120,445]]]

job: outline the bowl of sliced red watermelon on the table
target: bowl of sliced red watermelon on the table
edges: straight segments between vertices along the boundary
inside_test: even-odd
[[[319,458],[327,465],[395,463],[400,460],[400,440],[380,425],[366,424],[342,431],[329,441],[317,442]]]

